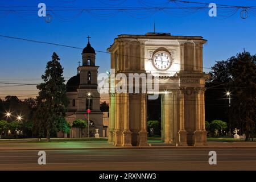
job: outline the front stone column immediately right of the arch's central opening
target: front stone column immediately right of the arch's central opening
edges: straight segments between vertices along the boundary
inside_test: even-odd
[[[181,88],[179,93],[179,146],[187,146],[187,131],[185,130],[184,92],[185,90]]]

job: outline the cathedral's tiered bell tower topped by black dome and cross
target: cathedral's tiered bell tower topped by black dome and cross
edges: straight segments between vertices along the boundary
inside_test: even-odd
[[[100,110],[100,93],[98,93],[98,66],[95,65],[96,53],[90,46],[90,36],[87,46],[82,50],[82,65],[77,68],[80,75],[80,83],[77,88],[77,110],[78,118],[85,119],[84,114],[90,109],[90,122],[95,129],[99,129],[102,136],[102,112]],[[90,103],[90,104],[89,104]],[[93,126],[90,126],[93,127]]]

